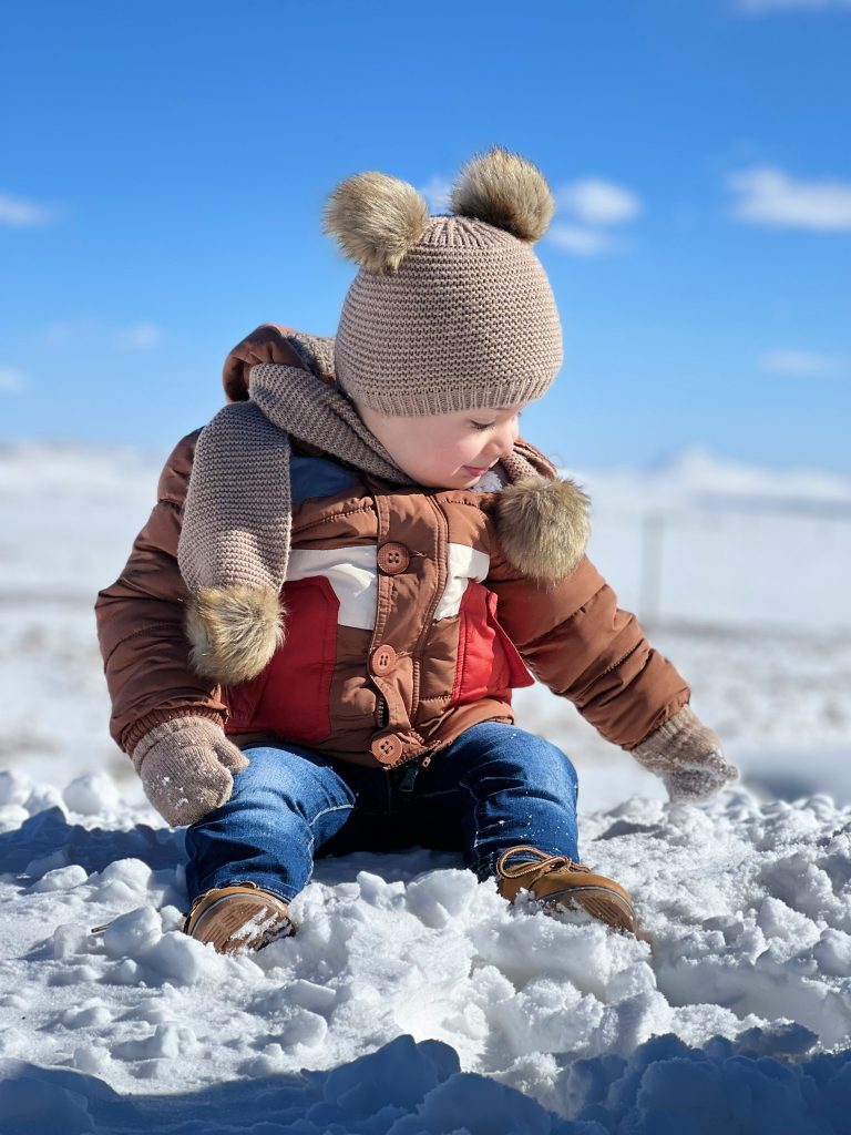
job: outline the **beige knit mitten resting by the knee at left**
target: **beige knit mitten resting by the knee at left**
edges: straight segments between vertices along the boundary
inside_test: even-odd
[[[172,717],[154,725],[132,755],[145,796],[172,827],[194,824],[230,799],[231,773],[248,758],[210,717]]]

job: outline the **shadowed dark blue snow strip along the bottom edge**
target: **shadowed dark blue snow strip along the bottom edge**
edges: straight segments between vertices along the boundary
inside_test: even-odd
[[[664,1135],[667,1132],[848,1130],[851,1053],[797,1054],[806,1029],[752,1029],[702,1051],[667,1034],[629,1060],[597,1057],[566,1073],[575,1118],[516,1088],[464,1073],[439,1041],[402,1035],[329,1073],[229,1082],[175,1096],[123,1098],[78,1071],[0,1060],[6,1135],[151,1132],[178,1135]]]

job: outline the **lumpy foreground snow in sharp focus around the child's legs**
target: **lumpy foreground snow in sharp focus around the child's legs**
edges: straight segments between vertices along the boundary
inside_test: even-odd
[[[298,933],[225,958],[180,932],[182,830],[103,774],[0,774],[3,1133],[843,1129],[851,809],[740,790],[580,830],[649,942],[414,849],[320,860]]]

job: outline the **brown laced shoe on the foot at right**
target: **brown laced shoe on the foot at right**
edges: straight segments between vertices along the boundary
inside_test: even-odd
[[[506,867],[511,857],[522,863]],[[513,902],[522,888],[545,905],[582,907],[593,918],[626,934],[638,933],[635,908],[626,891],[605,875],[595,875],[564,855],[547,855],[532,847],[508,848],[497,863],[499,893]]]

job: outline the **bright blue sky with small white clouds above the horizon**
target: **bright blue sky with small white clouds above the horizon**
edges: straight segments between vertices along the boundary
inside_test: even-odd
[[[0,442],[168,452],[258,323],[335,333],[342,178],[439,212],[500,144],[558,202],[530,440],[851,473],[850,54],[851,0],[5,5]]]

